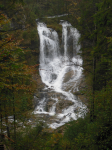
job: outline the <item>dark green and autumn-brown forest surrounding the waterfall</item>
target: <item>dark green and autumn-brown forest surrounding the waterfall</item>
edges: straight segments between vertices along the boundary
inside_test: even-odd
[[[60,18],[48,16],[63,15]],[[87,99],[84,118],[52,129],[34,118],[33,96],[39,83],[40,41],[36,20],[61,38],[59,20],[81,34],[81,57]],[[0,148],[6,150],[112,149],[112,1],[0,1]],[[75,64],[74,64],[75,65]],[[36,76],[36,77],[35,77]],[[35,79],[36,78],[36,79]],[[42,86],[42,87],[41,87]]]

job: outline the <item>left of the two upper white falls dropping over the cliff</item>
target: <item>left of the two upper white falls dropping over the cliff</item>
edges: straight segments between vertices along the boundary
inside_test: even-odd
[[[37,29],[40,36],[40,64],[47,64],[59,56],[58,34],[44,23],[38,23]]]

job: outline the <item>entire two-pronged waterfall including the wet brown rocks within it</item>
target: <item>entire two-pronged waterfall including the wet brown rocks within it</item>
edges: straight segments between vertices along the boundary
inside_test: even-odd
[[[61,20],[60,24],[61,44],[55,30],[47,28],[45,23],[37,24],[40,37],[39,73],[45,88],[33,113],[50,118],[47,124],[51,128],[84,117],[87,109],[86,105],[72,94],[78,91],[77,85],[83,70],[78,44],[80,34],[67,21]]]

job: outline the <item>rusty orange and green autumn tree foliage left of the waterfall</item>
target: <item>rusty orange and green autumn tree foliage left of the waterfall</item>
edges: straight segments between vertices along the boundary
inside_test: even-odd
[[[8,116],[13,116],[14,122],[26,116],[24,112],[32,108],[32,95],[36,87],[32,74],[36,72],[37,65],[28,66],[22,59],[25,51],[19,46],[21,41],[16,40],[13,32],[10,32],[10,23],[11,19],[8,19],[1,11],[0,117],[2,132],[6,130],[2,121],[5,121],[5,125],[9,127]],[[14,128],[16,128],[15,124]]]

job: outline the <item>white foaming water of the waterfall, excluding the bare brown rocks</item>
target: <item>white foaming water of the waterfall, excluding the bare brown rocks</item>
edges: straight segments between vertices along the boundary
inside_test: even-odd
[[[73,28],[70,23],[66,21],[61,21],[62,25],[62,40],[64,44],[64,54],[60,53],[58,34],[53,29],[47,28],[44,23],[38,23],[38,34],[40,37],[40,76],[42,82],[50,88],[52,91],[61,93],[64,96],[64,100],[69,100],[73,102],[72,106],[69,106],[62,110],[61,113],[55,112],[56,104],[58,103],[58,98],[51,97],[55,103],[52,108],[47,112],[45,110],[46,98],[42,98],[39,101],[37,108],[35,109],[35,114],[49,114],[56,115],[58,123],[54,122],[49,124],[52,128],[57,128],[64,123],[75,120],[77,117],[83,117],[86,106],[77,100],[77,97],[71,93],[71,90],[75,91],[77,89],[77,82],[82,75],[82,58],[78,55],[80,45],[78,45],[78,39],[80,37],[77,29]],[[73,40],[73,56],[69,57],[68,53],[68,40],[72,38]],[[71,65],[76,64],[75,65]],[[64,82],[64,78],[68,72],[72,71],[72,77]],[[70,86],[70,90],[66,90]],[[78,113],[76,113],[78,109]]]

